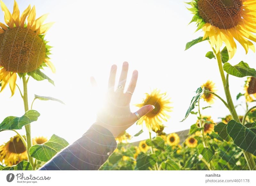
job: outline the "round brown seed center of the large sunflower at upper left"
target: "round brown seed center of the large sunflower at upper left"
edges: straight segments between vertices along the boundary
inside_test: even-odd
[[[8,71],[34,71],[45,58],[43,39],[27,28],[9,28],[0,34],[0,43],[0,66]]]

